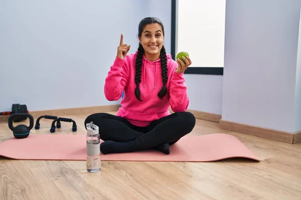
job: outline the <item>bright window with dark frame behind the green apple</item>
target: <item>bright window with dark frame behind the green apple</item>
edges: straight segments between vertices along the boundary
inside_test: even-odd
[[[185,73],[223,74],[226,0],[172,0],[172,52],[192,57]]]

